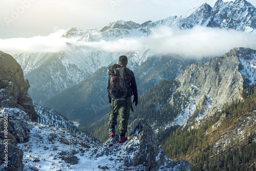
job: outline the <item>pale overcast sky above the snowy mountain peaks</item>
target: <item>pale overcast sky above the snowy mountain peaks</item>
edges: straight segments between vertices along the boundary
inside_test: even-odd
[[[182,15],[217,0],[1,0],[0,38],[45,36],[56,29],[102,28],[117,20],[143,23]],[[224,0],[224,2],[226,2]],[[256,2],[248,0],[256,6]]]

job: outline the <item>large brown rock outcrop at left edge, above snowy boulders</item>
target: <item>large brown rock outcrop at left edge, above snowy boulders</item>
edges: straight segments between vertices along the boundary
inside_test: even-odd
[[[29,81],[24,80],[20,65],[11,55],[0,51],[0,108],[19,108],[36,121],[38,115],[28,89]]]

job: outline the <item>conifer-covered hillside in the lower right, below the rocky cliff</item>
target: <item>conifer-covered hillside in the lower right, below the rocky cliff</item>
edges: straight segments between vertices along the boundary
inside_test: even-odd
[[[244,101],[226,105],[222,112],[204,118],[198,129],[191,129],[194,123],[190,123],[157,134],[166,155],[175,160],[188,160],[193,170],[256,170],[255,124],[248,124],[250,127],[246,127],[243,138],[238,138],[238,132],[233,133],[246,118],[255,122],[255,85],[246,86],[243,97]],[[216,145],[224,136],[229,136],[230,141]]]

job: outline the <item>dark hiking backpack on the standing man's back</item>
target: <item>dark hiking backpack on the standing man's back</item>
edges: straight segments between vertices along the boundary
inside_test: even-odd
[[[108,92],[109,95],[117,100],[125,100],[127,96],[127,80],[125,76],[125,67],[122,65],[114,64],[108,68],[109,84]]]

